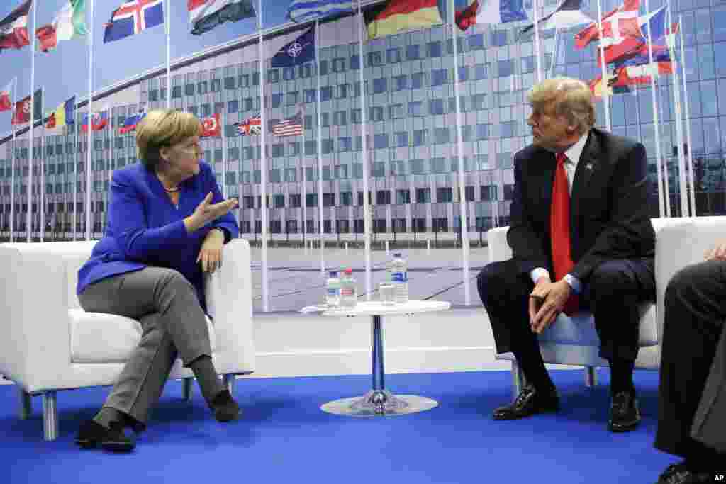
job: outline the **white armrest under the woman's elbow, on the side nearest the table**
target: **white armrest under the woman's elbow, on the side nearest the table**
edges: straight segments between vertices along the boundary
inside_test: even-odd
[[[221,268],[205,279],[205,298],[214,320],[217,362],[253,371],[252,271],[246,240],[232,239],[224,246]]]

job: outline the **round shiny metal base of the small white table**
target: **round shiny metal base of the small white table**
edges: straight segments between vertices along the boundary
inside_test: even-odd
[[[388,390],[370,390],[362,397],[340,398],[320,406],[329,414],[348,417],[386,417],[431,410],[439,403],[417,395],[393,395]]]

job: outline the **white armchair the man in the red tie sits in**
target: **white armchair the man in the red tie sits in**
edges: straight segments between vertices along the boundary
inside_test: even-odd
[[[726,239],[726,217],[653,218],[656,231],[656,304],[640,306],[640,351],[635,367],[658,370],[661,363],[663,336],[663,298],[672,276],[690,264],[703,261],[703,253],[716,242]],[[507,244],[509,227],[497,227],[487,233],[489,261],[505,261],[512,257]],[[587,386],[596,384],[596,368],[608,366],[598,356],[599,340],[592,313],[582,311],[572,317],[564,313],[542,335],[539,348],[545,363],[584,366]],[[512,353],[499,353],[497,359],[512,361],[513,393],[518,395],[523,384]]]

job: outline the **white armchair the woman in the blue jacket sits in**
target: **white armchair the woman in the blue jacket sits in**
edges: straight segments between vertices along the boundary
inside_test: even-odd
[[[43,395],[44,436],[58,432],[58,390],[113,385],[141,338],[134,319],[86,313],[78,305],[78,268],[96,241],[0,245],[0,278],[6,319],[0,329],[0,374],[20,388],[20,417],[31,395]],[[255,369],[250,246],[233,239],[224,264],[205,280],[213,362],[232,390],[234,375]],[[184,378],[189,398],[192,372],[177,360],[170,378]],[[99,402],[100,404],[101,402]]]

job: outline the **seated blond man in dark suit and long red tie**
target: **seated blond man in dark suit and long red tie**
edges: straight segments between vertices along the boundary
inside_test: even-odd
[[[529,103],[534,143],[514,158],[513,258],[488,264],[477,284],[497,352],[513,352],[526,380],[494,419],[559,409],[537,335],[560,311],[582,307],[595,316],[600,356],[611,367],[608,427],[632,430],[640,423],[632,381],[637,306],[656,299],[645,147],[593,127],[595,105],[582,81],[544,81]]]

